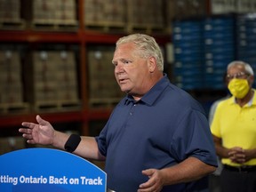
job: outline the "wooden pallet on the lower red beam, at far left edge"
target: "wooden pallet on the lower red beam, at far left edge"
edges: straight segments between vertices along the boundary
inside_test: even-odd
[[[28,112],[28,103],[0,103],[0,114],[17,114]]]

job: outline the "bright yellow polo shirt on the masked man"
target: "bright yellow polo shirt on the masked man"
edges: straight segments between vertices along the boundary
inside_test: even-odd
[[[243,108],[235,102],[235,97],[220,101],[216,108],[211,131],[222,139],[225,148],[241,147],[244,149],[256,148],[256,92]],[[239,165],[232,163],[228,158],[221,159],[222,164]],[[256,165],[256,158],[245,163]]]

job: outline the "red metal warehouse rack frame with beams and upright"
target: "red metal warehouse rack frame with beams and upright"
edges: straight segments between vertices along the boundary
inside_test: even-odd
[[[82,101],[82,108],[63,112],[44,112],[40,115],[52,124],[78,122],[82,127],[81,133],[89,135],[89,122],[107,120],[113,108],[90,108],[88,105],[86,51],[88,47],[95,44],[115,45],[116,40],[124,36],[125,33],[111,34],[84,28],[84,0],[78,0],[77,4],[79,28],[76,31],[39,31],[32,28],[22,30],[0,29],[0,44],[28,44],[32,47],[38,44],[76,44],[79,47],[77,72],[79,73],[79,99]],[[154,34],[152,35],[154,36]],[[156,40],[159,44],[164,45],[171,41],[171,37],[166,34],[158,34]],[[36,122],[36,114],[37,112],[33,110],[19,114],[0,114],[0,132],[8,132],[7,130],[10,129],[12,135],[13,129],[14,132],[18,132],[21,122]]]

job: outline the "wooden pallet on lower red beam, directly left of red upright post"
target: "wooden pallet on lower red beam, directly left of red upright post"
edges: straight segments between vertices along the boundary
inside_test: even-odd
[[[52,100],[52,101],[36,101],[34,109],[37,112],[56,112],[56,111],[72,111],[82,108],[80,100]]]

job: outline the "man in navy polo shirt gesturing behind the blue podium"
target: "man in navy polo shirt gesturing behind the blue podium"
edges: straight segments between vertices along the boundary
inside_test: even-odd
[[[108,188],[117,192],[206,190],[199,179],[215,171],[217,157],[204,109],[163,73],[155,39],[141,34],[120,38],[112,63],[127,96],[98,137],[80,141],[55,131],[40,116],[38,124],[22,123],[23,137],[106,160]]]

